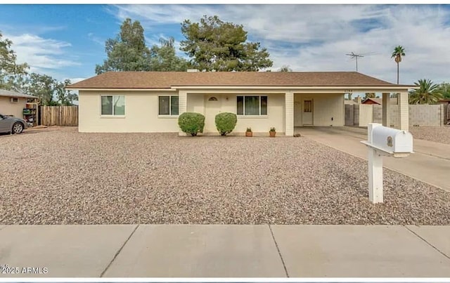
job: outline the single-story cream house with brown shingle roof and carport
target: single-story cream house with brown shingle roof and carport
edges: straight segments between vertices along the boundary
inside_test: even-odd
[[[344,126],[349,92],[401,93],[400,124],[408,129],[414,87],[358,72],[106,72],[68,89],[79,91],[80,132],[179,132],[179,114],[198,112],[204,132],[217,133],[216,114],[233,112],[233,133],[275,127],[292,136],[295,126]]]

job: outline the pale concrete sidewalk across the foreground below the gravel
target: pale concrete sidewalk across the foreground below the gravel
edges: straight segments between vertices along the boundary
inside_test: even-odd
[[[11,225],[0,239],[19,271],[0,277],[450,277],[450,226]]]

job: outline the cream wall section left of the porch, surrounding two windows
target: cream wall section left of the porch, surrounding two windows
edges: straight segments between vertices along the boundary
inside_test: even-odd
[[[125,96],[124,117],[101,117],[101,95]],[[79,91],[80,132],[177,132],[177,117],[158,117],[158,95],[167,91]]]

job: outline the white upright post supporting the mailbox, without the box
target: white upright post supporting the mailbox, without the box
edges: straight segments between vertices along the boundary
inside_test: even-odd
[[[373,143],[372,131],[381,126],[377,123],[369,123],[367,126],[367,141]],[[383,155],[373,147],[368,148],[368,200],[377,204],[383,202]]]

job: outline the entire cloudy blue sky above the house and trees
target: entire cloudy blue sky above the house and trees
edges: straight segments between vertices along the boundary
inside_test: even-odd
[[[354,71],[346,53],[368,54],[358,70],[395,82],[390,54],[402,45],[400,83],[450,81],[450,5],[0,5],[0,31],[13,41],[19,62],[33,72],[79,81],[95,75],[105,40],[124,18],[139,20],[149,46],[172,36],[180,23],[219,15],[242,24],[250,41],[268,48],[277,70]],[[179,55],[184,55],[178,51]]]

